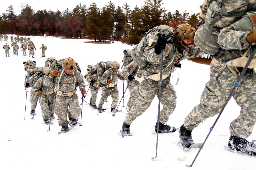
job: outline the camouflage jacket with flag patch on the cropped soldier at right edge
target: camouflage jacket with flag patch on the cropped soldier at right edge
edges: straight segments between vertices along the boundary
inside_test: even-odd
[[[246,36],[250,31],[256,29],[256,25],[253,24],[255,20],[252,19],[255,16],[256,11],[247,12],[239,21],[220,31],[218,44],[222,49],[228,50],[220,56],[223,61],[238,58],[251,47],[251,44],[246,40]],[[229,50],[232,50],[232,52],[230,53]],[[247,56],[250,56],[252,51],[253,49],[249,50]],[[256,56],[253,58],[255,59]]]

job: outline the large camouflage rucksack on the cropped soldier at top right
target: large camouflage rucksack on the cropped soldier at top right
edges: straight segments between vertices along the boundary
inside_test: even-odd
[[[195,33],[195,45],[205,53],[215,55],[220,50],[217,41],[221,29],[240,20],[246,12],[253,11],[255,8],[256,3],[252,0],[210,2],[205,20],[202,21]]]

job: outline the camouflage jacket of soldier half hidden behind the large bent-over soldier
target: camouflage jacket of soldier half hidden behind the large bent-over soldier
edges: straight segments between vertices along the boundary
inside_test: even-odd
[[[138,69],[138,65],[135,61],[130,62],[127,66],[125,66],[122,70],[122,76],[125,79],[128,79],[129,75],[141,77],[142,75],[142,68]]]

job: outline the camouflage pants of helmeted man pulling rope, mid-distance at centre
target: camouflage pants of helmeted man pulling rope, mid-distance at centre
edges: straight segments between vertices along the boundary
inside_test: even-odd
[[[111,98],[113,100],[112,104],[111,104],[111,106],[112,105],[113,106],[111,108],[116,108],[117,102],[118,102],[118,97],[119,97],[118,96],[119,95],[119,91],[118,91],[118,89],[116,87],[112,87],[112,88],[114,88],[114,91],[112,91],[112,92],[109,92],[110,88],[102,89],[101,98],[100,98],[100,102],[99,102],[98,108],[102,108],[105,100],[108,98],[109,93],[110,93],[110,96],[111,96]]]

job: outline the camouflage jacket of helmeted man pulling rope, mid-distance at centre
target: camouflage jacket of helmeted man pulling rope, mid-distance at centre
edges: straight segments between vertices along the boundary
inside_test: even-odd
[[[116,81],[117,81],[117,79],[125,80],[125,79],[122,77],[122,75],[121,75],[121,71],[117,70],[116,72],[113,72],[113,71],[111,70],[111,68],[107,69],[107,70],[103,73],[103,75],[102,75],[102,77],[101,77],[101,79],[100,79],[100,82],[101,82],[102,84],[105,84],[105,86],[108,86],[108,85],[109,85],[109,83],[108,83],[108,80],[109,80],[109,79],[112,79],[112,82],[111,82],[110,84],[115,84]]]

